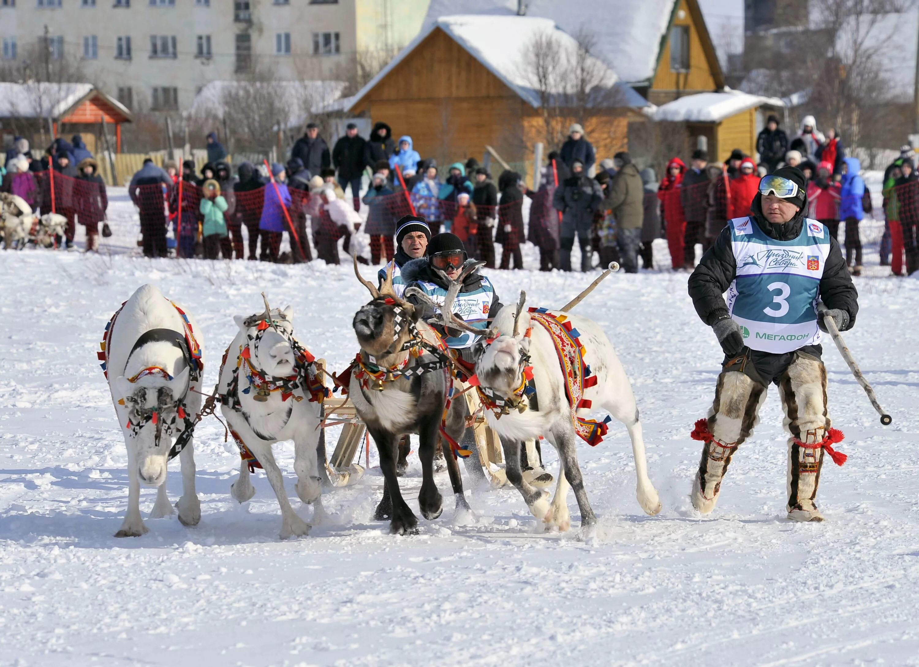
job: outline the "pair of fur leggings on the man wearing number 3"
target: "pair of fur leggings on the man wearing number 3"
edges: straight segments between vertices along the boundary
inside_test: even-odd
[[[728,367],[730,368],[730,366]],[[823,467],[823,448],[800,447],[823,441],[830,428],[826,407],[826,368],[820,359],[797,353],[777,377],[779,396],[789,433],[789,465],[786,510],[789,517],[821,520],[814,498]],[[759,408],[766,401],[766,387],[740,370],[726,369],[718,377],[715,401],[708,419],[698,473],[693,485],[693,505],[703,514],[715,508],[721,481],[731,459],[759,423]],[[792,516],[792,514],[798,514]]]

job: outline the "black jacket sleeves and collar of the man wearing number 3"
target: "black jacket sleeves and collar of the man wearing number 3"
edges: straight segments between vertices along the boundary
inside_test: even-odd
[[[772,224],[763,217],[760,195],[757,194],[751,211],[751,218],[768,236],[777,241],[789,241],[800,234],[807,207],[800,209],[798,214],[785,224]],[[722,295],[731,286],[736,275],[737,261],[732,250],[731,227],[728,226],[721,230],[714,245],[702,255],[696,270],[689,277],[689,296],[702,322],[711,326],[728,313],[728,306]],[[838,308],[849,314],[849,324],[846,328],[851,329],[858,313],[858,292],[845,266],[839,243],[832,237],[830,253],[826,257],[823,277],[820,279],[819,293],[827,308]]]

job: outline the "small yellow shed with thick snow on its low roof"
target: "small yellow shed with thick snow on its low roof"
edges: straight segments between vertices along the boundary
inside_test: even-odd
[[[777,97],[748,95],[726,89],[720,93],[687,95],[657,107],[652,118],[686,123],[688,139],[706,137],[709,155],[724,162],[732,150],[756,153],[756,135],[765,124],[764,115],[785,107]]]

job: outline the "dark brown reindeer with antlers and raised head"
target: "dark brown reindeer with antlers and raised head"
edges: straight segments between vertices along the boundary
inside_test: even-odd
[[[442,497],[434,482],[434,452],[437,434],[445,430],[455,442],[466,430],[466,401],[451,401],[445,420],[448,391],[451,387],[450,359],[437,333],[419,319],[414,306],[396,296],[392,288],[392,266],[378,289],[360,275],[357,259],[354,272],[372,300],[354,316],[354,331],[360,352],[349,369],[348,395],[357,416],[367,424],[380,453],[380,469],[385,478],[383,498],[374,518],[390,516],[391,532],[413,532],[418,519],[403,500],[396,476],[399,440],[416,433],[418,458],[424,480],[418,505],[425,519],[433,521],[443,512]],[[478,332],[481,333],[481,332]],[[343,374],[346,377],[346,374]],[[463,495],[456,455],[445,455],[456,510],[470,511]]]

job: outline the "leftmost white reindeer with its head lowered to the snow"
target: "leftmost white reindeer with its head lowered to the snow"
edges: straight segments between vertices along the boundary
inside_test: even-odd
[[[182,463],[178,519],[197,526],[201,518],[191,435],[201,406],[196,391],[203,339],[194,318],[185,315],[159,289],[144,285],[107,327],[99,358],[128,448],[128,514],[115,537],[147,532],[139,505],[142,483],[157,487],[150,518],[175,513],[165,480],[166,465],[176,453]]]

